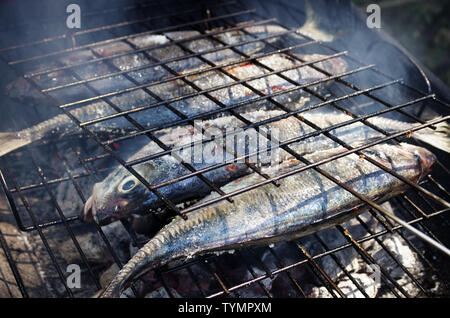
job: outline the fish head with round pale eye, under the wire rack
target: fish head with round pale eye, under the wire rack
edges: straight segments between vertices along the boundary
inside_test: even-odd
[[[145,180],[154,179],[151,163],[136,166]],[[138,212],[149,196],[148,188],[123,167],[116,168],[102,182],[96,183],[82,213],[85,222],[106,225]]]

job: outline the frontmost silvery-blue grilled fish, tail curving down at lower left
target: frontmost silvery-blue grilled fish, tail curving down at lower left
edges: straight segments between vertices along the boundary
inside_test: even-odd
[[[435,162],[431,152],[409,144],[377,145],[364,153],[413,182],[428,174]],[[323,156],[320,154],[318,159]],[[306,158],[317,160],[314,154]],[[355,154],[320,168],[370,200],[385,200],[406,189],[400,180]],[[285,171],[276,169],[274,174]],[[230,193],[262,180],[252,174],[222,189]],[[342,221],[342,214],[350,215],[348,211],[362,203],[312,169],[286,177],[280,184],[238,194],[233,203],[222,200],[200,208],[191,212],[186,221],[176,217],[131,258],[102,297],[119,297],[134,279],[175,259],[301,237],[312,229],[335,224],[336,219]]]

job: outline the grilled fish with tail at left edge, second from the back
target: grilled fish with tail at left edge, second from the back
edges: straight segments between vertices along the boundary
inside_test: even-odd
[[[316,54],[304,56],[303,58],[305,60],[321,60],[324,56]],[[293,61],[283,54],[274,54],[262,57],[259,59],[259,62],[266,64],[267,66],[271,66],[275,70],[289,69],[295,65],[300,65],[299,62]],[[334,61],[332,59],[322,61],[319,62],[319,64],[325,67],[328,71],[336,73],[343,72],[346,67],[345,62],[340,58],[335,58]],[[178,112],[181,112],[185,116],[192,116],[200,112],[217,110],[220,108],[219,104],[229,106],[241,102],[248,102],[249,107],[251,106],[253,109],[270,109],[274,107],[274,105],[267,100],[251,103],[250,101],[259,95],[255,91],[252,91],[240,84],[220,88],[224,85],[232,83],[230,77],[217,70],[198,73],[200,69],[201,68],[183,69],[183,74],[195,74],[192,76],[187,76],[186,78],[202,90],[208,90],[209,97],[206,97],[203,94],[199,95],[192,86],[183,82],[181,79],[173,80],[173,76],[166,76],[158,82],[160,84],[148,88],[153,96],[149,94],[148,91],[136,89],[108,97],[105,101],[100,100],[98,97],[89,97],[85,100],[87,103],[86,105],[73,108],[70,110],[70,113],[80,122],[86,122],[117,113],[117,110],[108,104],[109,102],[116,105],[122,111],[145,107],[150,104],[156,104],[153,107],[129,115],[143,127],[154,128],[181,119],[175,112],[163,105],[161,100],[176,100],[171,103],[171,107],[175,108]],[[238,79],[249,79],[259,76],[258,78],[250,81],[250,84],[255,89],[265,94],[285,90],[293,86],[293,84],[288,83],[278,76],[272,75],[261,78],[261,76],[263,76],[267,71],[254,63],[241,63],[233,65],[227,67],[226,71],[233,74]],[[83,73],[83,76],[81,77],[86,78],[90,76],[89,74],[91,71],[83,68],[80,72]],[[159,73],[156,72],[156,74]],[[288,76],[291,80],[301,84],[324,77],[323,74],[309,66],[291,69],[283,74]],[[145,83],[150,83],[155,80],[149,78],[149,76],[142,76],[141,79],[142,82]],[[138,82],[141,83],[140,81]],[[214,87],[217,87],[217,89],[214,89]],[[185,98],[179,100],[179,97],[181,96],[185,96]],[[186,96],[192,97],[186,98]],[[299,108],[302,106],[302,103],[304,103],[302,100],[301,91],[291,91],[280,95],[278,102],[290,105],[291,108]],[[246,108],[241,108],[240,111],[245,112]],[[105,136],[104,138],[110,138],[112,135],[125,135],[131,131],[137,130],[137,128],[134,127],[127,119],[120,116],[107,118],[104,121],[94,123],[87,127],[96,134]],[[55,116],[47,121],[24,129],[20,132],[2,132],[0,133],[0,156],[32,142],[55,138],[59,139],[68,135],[82,136],[83,134],[82,130],[65,114]]]

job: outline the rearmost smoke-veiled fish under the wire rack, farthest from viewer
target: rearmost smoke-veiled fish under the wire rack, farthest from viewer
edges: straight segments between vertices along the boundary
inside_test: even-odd
[[[253,32],[251,28],[249,28],[248,30],[250,32]],[[270,29],[267,29],[264,32],[270,32]],[[256,32],[255,34],[261,34],[261,30],[259,33]],[[60,66],[79,65],[78,67],[74,67],[69,71],[63,69],[33,77],[33,81],[35,81],[39,85],[39,87],[46,89],[55,86],[55,83],[58,83],[58,85],[62,85],[75,82],[77,81],[76,76],[79,76],[82,79],[102,76],[109,72],[113,72],[114,70],[112,70],[106,63],[102,61],[90,64],[87,64],[86,62],[89,62],[90,60],[93,60],[95,58],[107,57],[111,57],[111,63],[121,71],[131,70],[133,68],[142,68],[130,73],[130,76],[133,79],[138,80],[139,82],[161,80],[164,76],[168,75],[167,71],[165,71],[161,66],[152,67],[150,64],[154,63],[155,60],[149,60],[142,52],[131,53],[134,50],[133,45],[138,49],[145,49],[148,47],[149,50],[146,52],[150,56],[154,57],[156,60],[166,60],[186,55],[186,53],[184,53],[183,50],[178,46],[168,45],[171,41],[170,39],[189,39],[198,35],[199,32],[197,31],[167,32],[157,35],[137,35],[133,38],[130,38],[129,43],[126,43],[125,41],[118,41],[114,43],[95,46],[92,48],[92,50],[77,50],[76,52],[64,55],[63,57],[59,58],[57,62],[38,64],[35,69],[33,69],[33,72],[39,72],[45,69],[56,69]],[[243,32],[230,32],[229,34],[218,35],[218,37],[229,41],[231,44],[241,42],[249,38],[249,36],[245,35]],[[157,47],[158,45],[163,45],[163,47],[152,49],[153,47]],[[188,46],[190,49],[200,52],[214,47],[214,41],[208,38],[193,40],[188,42]],[[257,51],[262,50],[263,48],[264,44],[262,42],[254,42],[252,44],[244,46],[243,49],[244,52],[253,54]],[[114,58],[115,55],[119,55],[119,57]],[[211,54],[211,57],[214,57],[215,62],[227,62],[230,60],[230,58],[235,58],[235,56],[236,55],[232,53],[231,50],[222,50]],[[145,67],[147,65],[148,67]],[[199,59],[195,58],[180,59],[176,62],[176,65],[181,70],[185,70],[197,68],[201,65],[201,62]],[[118,75],[114,77],[99,79],[97,81],[91,82],[91,84],[95,89],[100,90],[100,93],[105,93],[120,88],[130,87],[131,82],[129,82],[123,75]],[[18,99],[19,101],[25,103],[48,103],[45,95],[31,86],[24,78],[20,78],[7,85],[5,94],[11,98]],[[50,95],[56,98],[61,103],[66,103],[83,98],[89,98],[92,96],[92,93],[86,86],[77,85],[69,87],[68,89],[50,92]]]

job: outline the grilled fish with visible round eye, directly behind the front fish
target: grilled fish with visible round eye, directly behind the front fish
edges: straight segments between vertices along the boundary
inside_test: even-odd
[[[259,111],[245,113],[243,116],[251,122],[260,122],[266,118],[273,118],[282,114],[283,112],[281,111]],[[342,113],[324,114],[308,112],[302,114],[302,116],[320,128],[327,128],[352,119],[352,117]],[[368,121],[388,132],[406,130],[414,127],[414,125],[410,123],[399,122],[383,117],[370,118]],[[243,123],[238,121],[233,116],[211,120],[206,122],[204,125],[204,127],[215,127],[221,131],[226,131],[226,128],[230,127],[242,126]],[[443,145],[447,147],[447,151],[449,151],[450,138],[448,138],[448,127],[446,124],[443,126],[447,129],[447,131],[436,132],[430,128],[426,128],[412,133],[411,137],[424,140],[435,145],[442,142]],[[191,163],[193,158],[190,156],[190,145],[193,140],[191,139],[194,133],[193,128],[179,127],[177,129],[179,129],[178,133],[175,133],[177,130],[167,131],[162,140],[168,145],[179,146],[180,150],[186,150],[180,145],[187,145],[187,152],[180,151],[180,153],[178,153],[174,151],[174,153],[179,154],[179,156],[184,158],[186,162]],[[272,141],[265,139],[264,135],[267,135],[267,133],[271,136],[276,135],[278,141],[285,142],[291,140],[292,138],[313,133],[315,130],[306,123],[291,116],[282,120],[274,121],[267,125],[262,125],[260,131],[261,133],[258,133],[254,128],[251,128],[246,130],[245,133],[237,134],[235,143],[232,144],[231,147],[228,147],[227,145],[227,148],[225,148],[226,153],[224,156],[219,154],[218,162],[211,160],[211,158],[217,155],[217,151],[223,149],[223,144],[220,142],[217,143],[217,140],[206,141],[202,145],[202,160],[194,163],[194,168],[203,169],[208,166],[212,166],[214,162],[229,162],[229,164],[225,166],[221,166],[203,174],[209,181],[220,187],[237,177],[252,172],[243,160],[238,160],[237,162],[232,160],[234,153],[236,153],[238,157],[242,157],[244,155],[253,154],[255,151],[260,151],[263,156],[258,156],[251,162],[262,166],[277,163],[274,162],[274,159],[275,161],[292,159],[291,154],[281,149],[279,149],[274,156],[272,156],[272,153],[264,150],[267,149],[268,146],[274,148],[276,147],[276,144]],[[340,138],[342,141],[350,145],[357,145],[362,142],[367,142],[374,138],[384,136],[380,132],[377,132],[360,122],[331,130],[330,134]],[[180,135],[183,136],[183,138],[177,138],[177,136]],[[239,145],[244,146],[242,147]],[[310,137],[289,144],[289,148],[297,152],[299,155],[311,154],[316,151],[327,150],[337,146],[339,145],[335,141],[324,135]],[[210,149],[210,152],[208,152],[207,149]],[[157,147],[154,143],[150,143],[131,156],[129,161],[143,158],[161,151],[162,149]],[[254,157],[256,156],[251,156],[251,158]],[[190,173],[187,168],[182,166],[179,161],[175,160],[175,158],[170,155],[165,155],[163,157],[159,157],[158,159],[137,164],[134,166],[134,169],[153,186],[168,182],[172,179],[183,177]],[[191,176],[176,183],[170,183],[164,187],[161,187],[158,191],[177,204],[188,199],[202,198],[211,191],[211,188],[204,181],[198,178],[198,176]],[[103,225],[120,218],[128,217],[132,213],[138,214],[148,211],[148,209],[157,209],[163,206],[165,206],[165,204],[157,197],[157,195],[150,192],[147,187],[145,187],[127,169],[118,167],[102,182],[97,183],[94,186],[92,195],[85,204],[83,218],[86,221],[95,220],[99,224]]]

